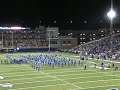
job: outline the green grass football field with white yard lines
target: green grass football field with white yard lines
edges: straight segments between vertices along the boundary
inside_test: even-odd
[[[20,54],[37,53],[13,53],[12,56],[19,57]],[[60,53],[62,56],[79,59],[76,54]],[[77,57],[78,56],[78,57]],[[0,58],[5,60],[5,54]],[[0,64],[0,76],[4,76],[1,83],[12,83],[12,88],[2,88],[0,90],[106,90],[108,88],[120,89],[120,71],[93,69],[92,60],[87,61],[88,68],[76,67],[55,67],[42,66],[38,72],[27,64]],[[97,65],[100,61],[97,62]]]

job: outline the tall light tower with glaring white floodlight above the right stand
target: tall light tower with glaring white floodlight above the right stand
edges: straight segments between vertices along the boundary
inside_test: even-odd
[[[112,34],[113,34],[113,19],[116,17],[116,12],[113,10],[113,0],[111,0],[111,9],[110,11],[107,13],[107,16],[108,18],[110,19],[110,49],[111,49],[111,52],[112,53]]]

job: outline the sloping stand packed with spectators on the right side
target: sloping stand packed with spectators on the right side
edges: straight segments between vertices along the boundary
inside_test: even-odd
[[[73,53],[87,52],[88,54],[99,54],[99,53],[108,53],[108,51],[110,51],[111,48],[113,52],[116,52],[117,50],[120,49],[119,46],[120,46],[120,33],[112,35],[112,39],[109,36],[104,37],[99,40],[94,40],[79,45],[69,51]]]

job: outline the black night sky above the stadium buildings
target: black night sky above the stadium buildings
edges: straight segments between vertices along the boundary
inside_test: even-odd
[[[99,29],[109,27],[109,9],[110,0],[1,0],[0,25]],[[120,27],[120,0],[114,0],[114,9],[114,27]]]

